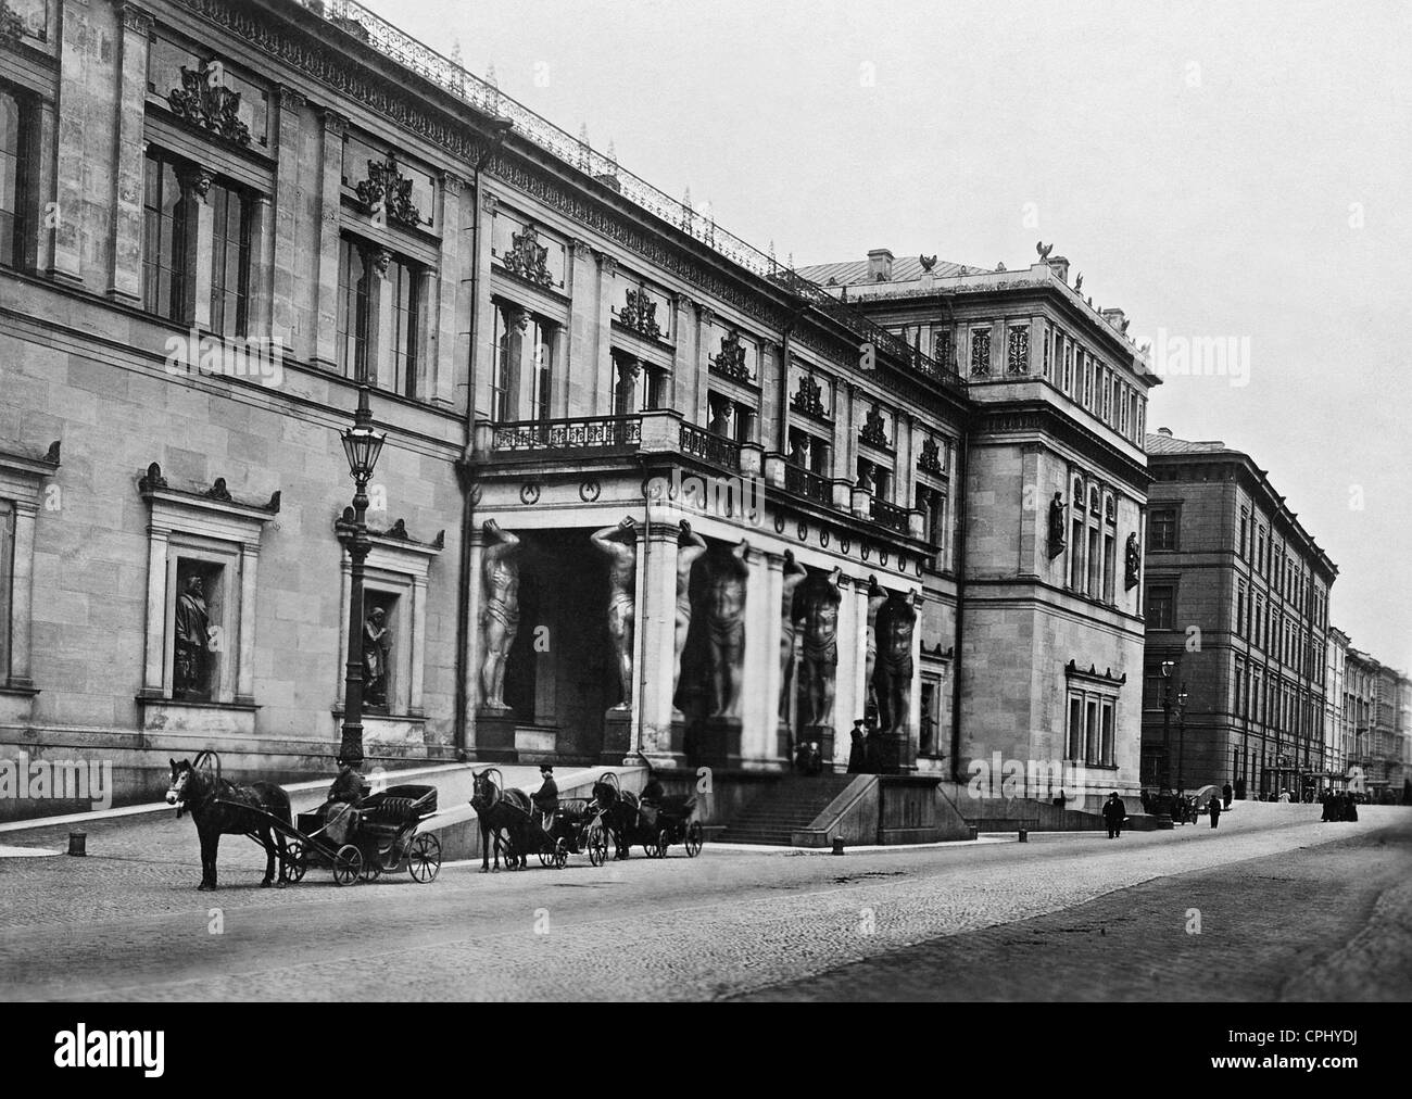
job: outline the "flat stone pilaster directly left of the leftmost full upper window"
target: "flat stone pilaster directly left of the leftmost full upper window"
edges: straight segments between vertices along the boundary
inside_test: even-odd
[[[152,17],[126,1],[117,8],[117,121],[113,134],[113,210],[107,295],[124,305],[143,301],[143,119],[147,110],[147,37]],[[66,212],[75,216],[75,212]],[[191,270],[191,268],[188,268]],[[209,298],[209,292],[208,292]]]

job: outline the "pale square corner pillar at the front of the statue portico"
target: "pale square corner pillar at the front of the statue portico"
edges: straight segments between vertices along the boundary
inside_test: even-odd
[[[666,501],[651,503],[645,531],[647,571],[644,600],[638,603],[641,637],[642,722],[640,750],[648,756],[669,756],[672,744],[672,684],[676,678],[676,540],[679,524],[671,518]]]

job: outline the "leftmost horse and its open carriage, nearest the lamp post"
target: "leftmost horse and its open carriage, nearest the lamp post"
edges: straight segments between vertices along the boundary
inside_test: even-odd
[[[265,850],[264,886],[274,884],[277,860],[281,886],[301,881],[311,866],[332,869],[339,886],[374,880],[404,863],[412,880],[421,883],[432,881],[441,870],[441,840],[433,832],[418,831],[436,812],[436,787],[395,785],[371,794],[356,808],[333,807],[353,814],[347,821],[323,809],[295,818],[282,787],[223,778],[220,757],[202,752],[195,763],[171,760],[167,801],[176,807],[178,816],[189,809],[196,822],[203,890],[216,889],[222,835],[249,836]]]

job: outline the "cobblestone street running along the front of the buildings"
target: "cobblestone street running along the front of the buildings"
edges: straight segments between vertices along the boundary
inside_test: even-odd
[[[86,859],[0,859],[6,999],[1406,999],[1412,814],[1243,805],[1217,831],[1032,835],[895,852],[681,848],[593,869],[446,865],[258,889],[227,839],[196,893],[169,814]],[[8,845],[58,846],[49,832]],[[1200,911],[1200,934],[1190,914]]]

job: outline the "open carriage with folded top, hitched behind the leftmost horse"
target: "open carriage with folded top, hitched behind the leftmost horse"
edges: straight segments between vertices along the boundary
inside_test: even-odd
[[[354,814],[345,843],[329,832],[339,812]],[[369,794],[356,808],[336,805],[329,815],[321,809],[301,812],[287,848],[289,880],[299,881],[311,866],[328,866],[333,880],[347,886],[360,879],[376,881],[405,865],[414,881],[432,881],[441,870],[441,839],[417,829],[435,812],[433,785],[388,787]]]

